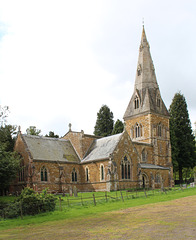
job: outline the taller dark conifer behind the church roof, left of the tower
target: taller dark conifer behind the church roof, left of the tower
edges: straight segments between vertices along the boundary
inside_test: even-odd
[[[110,111],[109,107],[103,105],[97,113],[94,134],[102,137],[111,135],[114,126],[113,118],[113,113]]]

